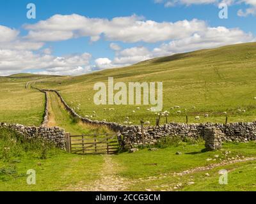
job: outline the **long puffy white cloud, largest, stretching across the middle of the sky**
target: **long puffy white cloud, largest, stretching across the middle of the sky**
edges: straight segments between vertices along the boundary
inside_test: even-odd
[[[97,41],[103,35],[109,41],[135,43],[144,41],[156,43],[175,38],[186,38],[195,31],[204,29],[202,20],[182,20],[177,22],[155,22],[141,17],[87,18],[81,15],[54,15],[36,24],[25,25],[29,29],[29,40],[60,41],[88,36]]]

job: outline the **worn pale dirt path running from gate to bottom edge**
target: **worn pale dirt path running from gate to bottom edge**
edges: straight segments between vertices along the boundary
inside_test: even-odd
[[[124,179],[116,175],[118,173],[118,164],[114,163],[112,156],[104,156],[103,168],[100,172],[100,179],[95,180],[91,184],[77,184],[75,187],[68,187],[72,191],[127,191],[128,186],[132,184],[129,179]]]

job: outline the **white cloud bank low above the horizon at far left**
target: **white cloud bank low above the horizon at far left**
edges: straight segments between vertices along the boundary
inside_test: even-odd
[[[78,72],[86,71],[85,66],[89,65],[90,58],[91,55],[88,53],[55,57],[47,54],[35,54],[29,50],[20,52],[19,50],[0,49],[0,75],[29,69],[44,69],[52,75],[75,75]]]

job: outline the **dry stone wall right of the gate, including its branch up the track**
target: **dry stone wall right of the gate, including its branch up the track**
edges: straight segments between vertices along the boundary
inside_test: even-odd
[[[34,88],[37,89],[37,88]],[[125,148],[136,147],[137,145],[142,144],[142,133],[141,126],[124,126],[117,124],[115,122],[104,122],[98,120],[90,120],[84,117],[81,117],[76,113],[70,106],[67,105],[65,100],[62,98],[60,92],[50,89],[40,90],[41,92],[55,92],[61,99],[61,102],[67,109],[67,111],[73,116],[78,117],[84,123],[107,126],[113,131],[120,132],[123,135],[123,142]],[[256,140],[256,122],[236,122],[230,123],[227,125],[224,124],[182,124],[182,123],[170,123],[164,124],[163,126],[158,127],[145,127],[145,144],[154,144],[157,143],[159,139],[164,136],[180,136],[181,138],[204,138],[205,139],[205,129],[214,127],[220,130],[221,140],[224,142],[248,142],[250,140]]]

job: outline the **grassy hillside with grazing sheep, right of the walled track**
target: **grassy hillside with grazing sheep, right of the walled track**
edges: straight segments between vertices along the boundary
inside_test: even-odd
[[[67,103],[81,115],[93,115],[95,111],[95,120],[123,123],[125,117],[129,117],[138,124],[140,119],[156,121],[156,115],[147,110],[151,106],[140,106],[140,110],[136,109],[138,105],[96,106],[93,85],[107,82],[108,77],[125,83],[163,82],[163,105],[164,110],[171,112],[170,121],[185,122],[185,108],[189,122],[196,122],[197,115],[200,122],[225,122],[223,112],[228,112],[229,122],[253,121],[256,119],[255,66],[256,43],[244,43],[159,57],[78,77],[51,78],[38,87],[60,90]],[[182,113],[172,110],[173,106],[180,106]],[[109,111],[109,108],[115,110]],[[209,118],[204,118],[206,113]]]

